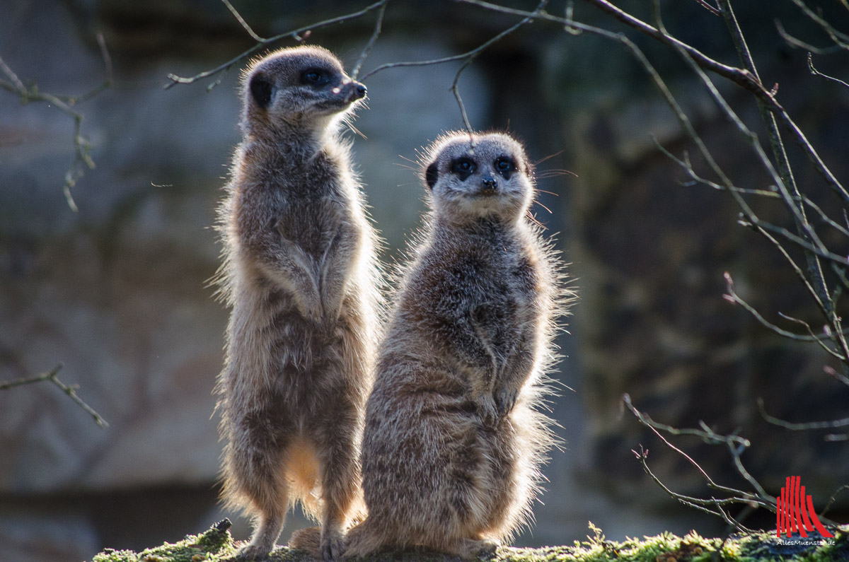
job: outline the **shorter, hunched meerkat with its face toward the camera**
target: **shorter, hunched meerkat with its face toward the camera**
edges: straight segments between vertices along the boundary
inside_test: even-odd
[[[568,292],[528,215],[525,150],[506,134],[470,141],[448,134],[425,157],[432,211],[379,348],[363,436],[368,519],[346,555],[495,548],[531,518],[554,443],[536,407]]]

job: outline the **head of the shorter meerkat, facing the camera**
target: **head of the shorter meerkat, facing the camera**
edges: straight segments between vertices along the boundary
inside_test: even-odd
[[[439,216],[517,221],[531,205],[533,167],[507,134],[448,133],[427,150],[424,163],[424,183]]]

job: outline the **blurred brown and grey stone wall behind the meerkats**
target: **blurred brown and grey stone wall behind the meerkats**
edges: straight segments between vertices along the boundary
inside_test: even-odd
[[[516,3],[532,8],[526,4]],[[622,3],[650,18],[642,4]],[[235,5],[270,37],[361,3]],[[779,16],[800,25],[791,8],[777,8]],[[581,20],[616,27],[581,3],[576,9]],[[666,23],[734,63],[722,23],[702,11],[676,3]],[[755,8],[741,7],[739,17],[764,81],[779,81],[782,102],[835,173],[849,177],[849,90],[808,75],[804,53],[785,47]],[[513,22],[450,2],[391,3],[364,70],[461,53]],[[350,68],[373,24],[368,16],[316,30],[309,42],[339,53]],[[110,49],[115,86],[76,108],[97,164],[72,190],[79,212],[62,194],[72,122],[0,91],[0,379],[63,362],[60,379],[79,385],[110,424],[99,429],[45,383],[0,393],[0,543],[9,559],[79,560],[104,547],[144,548],[224,515],[237,523],[237,537],[250,531],[216,505],[221,445],[211,390],[227,312],[207,286],[218,263],[214,210],[239,140],[238,71],[209,92],[209,81],[163,85],[167,74],[208,70],[251,41],[216,0],[12,0],[0,7],[0,57],[42,91],[83,93],[104,76],[97,31]],[[640,43],[734,181],[764,187],[752,156],[687,69]],[[823,59],[821,70],[846,77],[846,59],[832,60]],[[355,122],[363,136],[351,139],[388,243],[386,261],[401,256],[423,208],[417,150],[462,126],[448,90],[457,68],[396,68],[366,82],[368,109]],[[754,108],[726,86],[755,126]],[[659,421],[704,420],[751,438],[744,460],[773,493],[790,474],[801,474],[818,499],[849,481],[845,444],[790,434],[757,416],[755,399],[763,396],[770,413],[786,419],[845,417],[849,393],[824,375],[822,353],[788,345],[722,300],[729,271],[753,304],[815,320],[774,250],[736,224],[726,194],[678,185],[683,172],[649,133],[678,155],[692,147],[627,53],[537,22],[483,53],[459,87],[473,126],[507,128],[532,159],[551,156],[538,166],[539,187],[550,193],[540,194],[535,213],[556,233],[581,297],[571,334],[559,339],[567,357],[556,378],[574,390],[553,405],[565,450],[553,453],[537,525],[518,542],[581,539],[588,520],[609,537],[722,531],[719,520],[680,508],[644,476],[631,452],[639,444],[672,487],[706,493],[682,458],[622,415],[623,392]],[[817,189],[817,180],[810,171],[800,176],[806,188]],[[817,197],[829,201],[827,193]],[[769,205],[758,212],[781,220]],[[743,486],[724,451],[684,444],[711,475]],[[293,517],[281,540],[297,525],[303,522]]]

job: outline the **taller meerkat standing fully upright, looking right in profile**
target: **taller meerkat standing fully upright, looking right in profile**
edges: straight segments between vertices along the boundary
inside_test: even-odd
[[[220,208],[232,313],[217,385],[222,497],[255,518],[242,559],[267,556],[299,499],[321,522],[323,558],[337,558],[360,495],[379,297],[338,125],[365,95],[323,48],[284,48],[244,74],[243,140]]]

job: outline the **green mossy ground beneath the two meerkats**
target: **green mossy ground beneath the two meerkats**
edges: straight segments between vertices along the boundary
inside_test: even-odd
[[[188,535],[174,544],[148,548],[140,553],[130,550],[105,550],[92,562],[224,562],[233,558],[236,547],[230,535],[229,521],[213,525],[200,535]],[[729,537],[727,540],[703,538],[695,533],[676,537],[664,533],[657,537],[608,541],[598,529],[591,527],[594,537],[571,546],[544,548],[498,548],[486,562],[849,562],[849,527],[835,530],[834,539],[779,539],[775,533],[763,532]],[[801,544],[797,544],[801,542]],[[273,562],[312,562],[301,550],[278,548]],[[443,562],[444,555],[413,549],[403,553],[386,553],[368,562]]]

